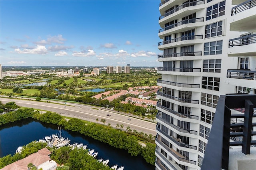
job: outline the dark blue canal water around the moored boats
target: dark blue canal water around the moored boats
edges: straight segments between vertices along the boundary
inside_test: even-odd
[[[48,123],[25,119],[1,125],[0,156],[14,154],[18,146],[23,146],[33,140],[43,139],[45,136],[58,134],[58,126]],[[128,151],[114,148],[106,143],[94,140],[78,132],[71,132],[62,128],[62,136],[70,139],[70,144],[88,144],[87,148],[98,152],[97,159],[109,159],[108,165],[124,166],[124,170],[154,170],[154,166],[147,163],[142,156],[131,156]]]

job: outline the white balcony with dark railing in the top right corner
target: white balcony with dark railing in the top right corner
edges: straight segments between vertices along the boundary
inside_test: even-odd
[[[256,0],[247,0],[231,10],[230,31],[250,31],[256,28]]]

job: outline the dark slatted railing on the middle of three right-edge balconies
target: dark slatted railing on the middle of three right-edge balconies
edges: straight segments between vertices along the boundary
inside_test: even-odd
[[[234,38],[228,41],[228,47],[242,46],[256,43],[256,34]]]

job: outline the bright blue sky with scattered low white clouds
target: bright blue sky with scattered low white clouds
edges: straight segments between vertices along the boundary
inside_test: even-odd
[[[160,0],[0,1],[2,66],[160,66]]]

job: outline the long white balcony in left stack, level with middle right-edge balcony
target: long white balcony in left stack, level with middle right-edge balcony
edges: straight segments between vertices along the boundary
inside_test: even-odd
[[[196,36],[184,36],[180,38],[174,38],[172,40],[166,40],[158,43],[158,49],[162,50],[167,47],[178,47],[182,44],[193,45],[196,43],[203,43],[203,35]]]

